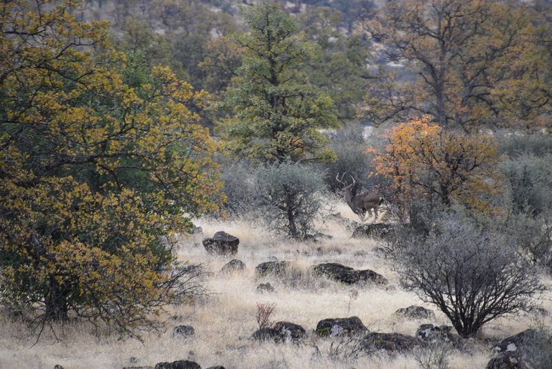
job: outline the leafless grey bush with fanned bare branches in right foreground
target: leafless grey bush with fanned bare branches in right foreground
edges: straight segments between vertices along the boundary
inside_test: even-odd
[[[544,290],[506,237],[464,212],[435,214],[428,224],[428,234],[399,232],[393,257],[404,287],[437,305],[462,337],[497,316],[527,310]]]

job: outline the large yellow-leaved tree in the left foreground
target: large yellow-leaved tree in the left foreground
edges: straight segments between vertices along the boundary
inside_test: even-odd
[[[138,336],[189,292],[164,236],[217,209],[217,147],[190,110],[204,93],[140,75],[74,10],[0,4],[0,303]]]

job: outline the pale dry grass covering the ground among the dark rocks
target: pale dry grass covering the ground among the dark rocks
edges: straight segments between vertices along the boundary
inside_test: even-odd
[[[345,205],[346,206],[346,205]],[[344,216],[355,220],[348,208],[336,206]],[[63,341],[55,342],[46,333],[34,341],[21,323],[0,321],[0,368],[54,368],[61,364],[66,369],[123,368],[124,366],[155,366],[160,361],[191,359],[203,368],[223,365],[226,368],[417,368],[413,355],[395,357],[348,356],[347,346],[337,346],[331,339],[319,339],[313,334],[321,319],[359,316],[370,330],[414,334],[426,323],[400,319],[393,315],[398,308],[423,305],[417,297],[404,292],[397,283],[391,265],[380,258],[373,240],[351,239],[348,231],[335,223],[320,223],[322,231],[333,238],[322,243],[295,243],[267,236],[251,222],[219,222],[198,220],[204,235],[182,238],[179,258],[190,263],[203,264],[211,274],[206,284],[211,292],[206,303],[180,305],[166,315],[167,331],[149,334],[144,343],[136,340],[117,341],[108,334],[94,334],[87,325],[74,324],[65,328]],[[224,230],[240,238],[237,258],[246,263],[243,272],[220,274],[229,259],[208,256],[201,246],[201,238]],[[293,261],[294,272],[282,278],[255,277],[255,266],[275,256],[278,260]],[[337,262],[356,269],[373,269],[389,279],[389,285],[351,287],[313,276],[311,265]],[[256,286],[269,281],[275,292],[258,294]],[[352,291],[357,292],[354,296]],[[276,303],[274,321],[291,321],[302,325],[308,334],[305,343],[298,345],[256,343],[249,337],[257,329],[256,303]],[[426,305],[426,308],[431,308]],[[552,310],[550,301],[544,308]],[[437,313],[437,312],[436,312]],[[432,323],[447,323],[437,313]],[[528,328],[535,317],[516,316],[498,319],[482,331],[482,337],[503,338]],[[2,319],[2,318],[0,318]],[[551,319],[545,318],[550,325]],[[170,337],[175,325],[195,327],[195,336],[188,339]],[[337,347],[337,348],[336,348]],[[488,344],[474,342],[471,350],[453,352],[452,368],[484,368],[489,361]],[[135,357],[137,363],[129,359]]]

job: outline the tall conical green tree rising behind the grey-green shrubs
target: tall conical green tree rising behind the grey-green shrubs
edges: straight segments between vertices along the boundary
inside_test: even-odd
[[[318,129],[337,126],[335,107],[297,68],[313,45],[277,4],[259,3],[243,16],[251,31],[235,38],[243,65],[219,105],[231,113],[219,124],[228,149],[260,162],[330,160]]]

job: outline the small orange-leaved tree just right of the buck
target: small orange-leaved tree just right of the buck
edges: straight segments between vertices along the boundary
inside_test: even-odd
[[[391,181],[403,209],[413,201],[476,211],[495,211],[493,196],[502,191],[496,145],[491,138],[446,131],[428,118],[396,126],[375,154],[375,171]]]

